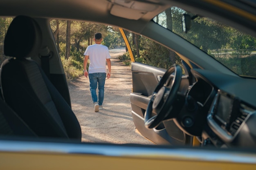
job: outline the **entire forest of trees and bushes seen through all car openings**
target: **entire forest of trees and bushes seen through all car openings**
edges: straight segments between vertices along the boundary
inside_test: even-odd
[[[202,51],[227,66],[238,75],[256,76],[251,67],[256,63],[256,39],[236,29],[225,26],[209,18],[193,17],[191,30],[182,31],[182,9],[172,7],[157,15],[153,21],[166,27],[188,40]],[[0,62],[6,58],[3,55],[4,36],[12,18],[0,18]],[[103,45],[109,49],[125,47],[119,28],[92,22],[51,20],[51,29],[61,56],[67,80],[83,75],[83,52],[88,45],[93,44],[96,32],[103,35]],[[141,35],[125,31],[132,46],[137,62],[168,68],[172,64],[181,64],[175,52],[157,44]],[[126,65],[130,65],[129,53],[119,57]]]

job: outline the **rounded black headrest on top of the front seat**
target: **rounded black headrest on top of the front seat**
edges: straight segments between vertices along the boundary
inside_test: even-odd
[[[42,45],[42,32],[37,22],[19,15],[11,22],[5,39],[4,55],[16,58],[38,55]]]

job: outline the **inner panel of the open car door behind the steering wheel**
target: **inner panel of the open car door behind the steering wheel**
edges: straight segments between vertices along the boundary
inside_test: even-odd
[[[130,94],[130,102],[132,108],[132,118],[136,126],[136,131],[155,144],[179,145],[190,143],[188,140],[190,137],[185,135],[175,125],[173,120],[164,121],[152,130],[145,128],[144,114],[146,112],[148,102],[150,101],[150,96],[153,94],[155,87],[166,70],[139,62],[133,62],[131,65],[132,93]],[[188,85],[188,78],[186,76],[182,77],[179,91],[185,94],[186,91],[184,89],[187,89]]]

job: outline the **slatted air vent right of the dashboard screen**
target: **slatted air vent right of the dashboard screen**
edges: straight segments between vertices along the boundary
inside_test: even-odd
[[[254,111],[252,108],[245,106],[244,104],[240,104],[240,109],[238,116],[231,123],[229,132],[232,135],[235,135],[236,131],[240,128],[241,124],[245,121],[246,117]]]

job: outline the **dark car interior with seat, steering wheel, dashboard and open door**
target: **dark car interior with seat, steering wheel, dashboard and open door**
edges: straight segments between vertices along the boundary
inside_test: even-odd
[[[71,108],[49,26],[52,18],[60,18],[119,26],[158,42],[180,57],[182,65],[173,64],[168,69],[136,60],[131,64],[131,114],[136,131],[143,137],[157,145],[193,146],[197,140],[198,146],[255,147],[255,77],[238,75],[153,20],[167,8],[180,7],[255,37],[255,6],[246,1],[230,1],[227,7],[195,0],[65,2],[61,6],[61,0],[26,1],[22,10],[8,0],[0,2],[0,6],[4,4],[0,15],[15,17],[4,39],[4,55],[10,58],[0,70],[1,135],[81,141],[81,127]],[[228,11],[228,7],[240,7],[245,15]]]

